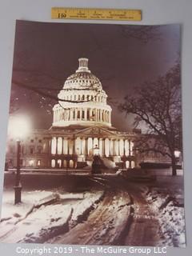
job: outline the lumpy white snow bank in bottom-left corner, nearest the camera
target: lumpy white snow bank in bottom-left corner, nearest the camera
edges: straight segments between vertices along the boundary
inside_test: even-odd
[[[45,242],[53,235],[68,228],[72,209],[69,206],[41,206],[22,222],[15,225],[11,234],[2,238],[2,242]]]

